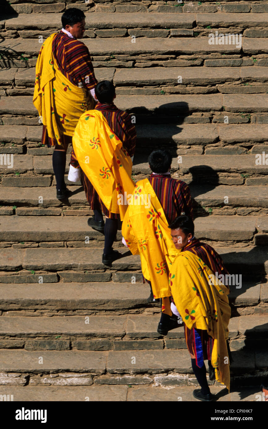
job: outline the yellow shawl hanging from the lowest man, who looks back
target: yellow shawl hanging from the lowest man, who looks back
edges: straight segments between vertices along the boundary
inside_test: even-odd
[[[175,305],[186,326],[206,330],[214,338],[211,364],[215,368],[216,380],[230,390],[226,344],[231,316],[228,288],[190,251],[181,252],[173,261],[170,286]]]

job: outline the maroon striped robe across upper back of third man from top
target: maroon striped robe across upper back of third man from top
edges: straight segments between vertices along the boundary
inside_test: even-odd
[[[189,186],[182,180],[171,178],[170,174],[151,174],[149,182],[170,224],[184,211],[193,220],[193,209]]]

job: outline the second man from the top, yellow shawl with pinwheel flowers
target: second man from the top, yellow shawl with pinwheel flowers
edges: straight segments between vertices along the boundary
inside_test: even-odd
[[[102,262],[110,266],[120,257],[112,246],[118,221],[123,220],[128,206],[125,195],[132,194],[135,185],[131,179],[131,157],[136,130],[130,116],[113,103],[116,97],[113,82],[99,82],[95,93],[99,103],[81,116],[74,131],[68,177],[73,174],[75,178],[75,170],[82,169],[81,182],[94,211],[88,225],[104,232]],[[106,216],[105,225],[102,212]]]

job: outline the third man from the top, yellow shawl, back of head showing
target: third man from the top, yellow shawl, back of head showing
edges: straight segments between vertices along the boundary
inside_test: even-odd
[[[191,194],[185,182],[171,178],[172,157],[159,149],[149,155],[152,174],[138,181],[122,225],[132,254],[140,254],[143,276],[151,286],[148,302],[162,300],[158,332],[167,335],[178,326],[170,307],[168,282],[172,258],[177,254],[168,224],[181,213],[193,216]]]

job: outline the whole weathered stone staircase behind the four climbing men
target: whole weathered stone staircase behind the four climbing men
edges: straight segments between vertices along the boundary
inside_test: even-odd
[[[66,176],[68,205],[55,198],[52,149],[41,146],[32,104],[34,66],[41,42],[75,6],[85,11],[83,42],[97,79],[113,79],[116,105],[135,118],[134,180],[149,175],[153,148],[168,148],[173,177],[191,188],[196,236],[242,275],[230,294],[233,393],[221,396],[217,383],[212,392],[218,400],[256,400],[235,390],[257,392],[268,365],[268,1],[5,3],[0,393],[195,400],[183,328],[157,333],[160,307],[146,303],[139,257],[122,246],[119,231],[123,256],[103,266],[104,236],[87,226],[92,211],[81,184]],[[209,44],[216,31],[241,34],[241,48]]]

